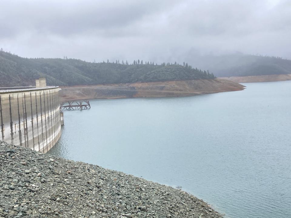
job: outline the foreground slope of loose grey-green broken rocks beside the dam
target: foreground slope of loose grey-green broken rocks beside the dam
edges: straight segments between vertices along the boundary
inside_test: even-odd
[[[0,142],[0,217],[222,216],[182,190]]]

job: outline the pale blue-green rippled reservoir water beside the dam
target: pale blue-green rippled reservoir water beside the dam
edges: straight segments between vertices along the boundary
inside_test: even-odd
[[[291,81],[65,111],[50,154],[182,186],[231,218],[291,217]]]

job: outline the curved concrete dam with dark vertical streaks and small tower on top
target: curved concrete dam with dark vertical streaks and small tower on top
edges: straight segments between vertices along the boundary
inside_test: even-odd
[[[0,88],[0,141],[43,153],[51,149],[61,135],[59,90],[45,78],[36,86]]]

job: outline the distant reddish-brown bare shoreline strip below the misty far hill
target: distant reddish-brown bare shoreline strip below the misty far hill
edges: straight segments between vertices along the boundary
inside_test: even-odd
[[[262,76],[244,76],[244,77],[221,77],[237,83],[250,83],[250,82],[276,82],[291,80],[291,74],[274,74]]]

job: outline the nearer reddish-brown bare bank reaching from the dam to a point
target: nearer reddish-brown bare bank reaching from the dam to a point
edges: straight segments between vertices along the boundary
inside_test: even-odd
[[[84,99],[182,97],[240,91],[244,88],[241,84],[224,79],[187,80],[62,87],[60,95],[64,102]]]

